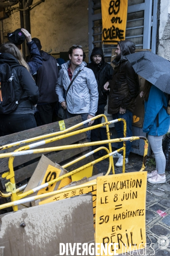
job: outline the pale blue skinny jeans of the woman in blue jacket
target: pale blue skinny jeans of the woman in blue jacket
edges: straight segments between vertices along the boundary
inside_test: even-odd
[[[166,158],[162,150],[162,137],[163,136],[147,136],[153,154],[155,156],[156,170],[158,170],[159,174],[163,174],[165,172],[166,166]]]

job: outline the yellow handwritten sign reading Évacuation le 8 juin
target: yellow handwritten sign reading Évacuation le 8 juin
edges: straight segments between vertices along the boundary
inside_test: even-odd
[[[119,244],[116,253],[125,253],[125,246],[129,251],[135,244],[143,247],[146,187],[147,172],[97,177],[96,243],[113,243],[112,253],[114,243]]]

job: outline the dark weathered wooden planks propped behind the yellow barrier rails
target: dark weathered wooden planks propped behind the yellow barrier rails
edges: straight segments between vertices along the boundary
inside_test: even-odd
[[[75,125],[76,123],[81,122],[81,121],[82,121],[81,116],[77,116],[76,118],[66,119],[65,120],[65,127],[68,128],[70,126]],[[57,129],[59,130],[58,122],[52,123],[50,125],[43,125],[41,127],[37,127],[37,128],[34,128],[34,129],[30,129],[30,130],[27,130],[27,131],[20,132],[20,133],[10,134],[8,136],[1,137],[0,138],[0,144],[5,145],[7,143],[12,143],[12,142],[17,141],[17,140],[24,140],[26,138],[40,136],[42,134],[55,132],[55,131],[57,131]],[[79,128],[77,128],[77,129],[79,129]],[[33,136],[33,134],[34,134],[34,136]],[[42,145],[42,146],[37,147],[37,148],[45,148],[45,147],[60,146],[60,145],[70,145],[70,144],[73,144],[73,143],[76,143],[76,142],[77,143],[78,142],[83,143],[85,141],[87,142],[87,140],[85,140],[86,137],[87,137],[86,133],[77,134],[75,136],[68,137],[68,138],[65,138],[65,139],[62,139],[62,140],[58,140],[58,141],[55,141],[53,143],[48,143],[48,144]],[[26,145],[26,144],[24,144],[24,145]],[[19,146],[9,148],[9,149],[1,151],[1,152],[14,151],[14,149],[16,149],[18,147]],[[76,148],[76,149],[65,150],[65,151],[60,151],[60,152],[49,152],[49,153],[46,153],[45,156],[48,157],[53,162],[56,161],[57,163],[61,163],[65,160],[70,159],[71,157],[76,156],[77,154],[80,154],[80,153],[85,154],[85,153],[89,152],[89,149],[90,149],[89,147],[87,147],[87,148],[85,147],[85,148]],[[28,155],[28,156],[15,157],[14,166],[19,166],[23,163],[29,162],[30,160],[35,161],[34,163],[31,163],[31,164],[28,163],[28,166],[25,166],[25,167],[15,171],[15,182],[16,183],[18,183],[18,182],[20,182],[20,181],[22,181],[22,180],[24,180],[28,177],[31,177],[32,173],[34,172],[34,170],[35,170],[35,168],[38,164],[38,161],[39,161],[41,155],[42,154],[32,154],[32,155]],[[94,160],[93,156],[87,157],[85,160],[82,160],[82,161],[72,165],[70,168],[68,167],[68,169],[76,169],[79,166],[82,166],[85,163],[89,163],[92,160]],[[71,161],[71,160],[68,160],[67,162],[69,162],[69,161]],[[0,159],[0,172],[2,173],[2,172],[4,172],[4,170],[8,170],[8,158]],[[2,177],[0,177],[0,180],[1,180],[1,183],[2,183],[1,187],[3,187],[3,190],[5,190],[6,189],[5,183],[7,182],[7,180],[2,179]]]

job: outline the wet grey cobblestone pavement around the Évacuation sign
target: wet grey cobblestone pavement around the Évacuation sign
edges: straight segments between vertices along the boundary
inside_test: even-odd
[[[94,155],[94,158],[98,158]],[[114,164],[118,158],[114,158]],[[129,163],[126,164],[125,172],[137,172],[142,167],[143,157],[130,153]],[[98,172],[106,174],[108,170],[108,159],[105,159],[96,164]],[[146,171],[151,172],[155,166],[146,166]],[[122,173],[122,167],[115,166],[115,174]],[[112,173],[111,173],[112,174]],[[147,249],[145,252],[131,252],[126,255],[154,255],[154,256],[170,256],[170,172],[165,172],[166,183],[151,184],[147,183],[146,196],[146,237]],[[156,211],[161,210],[167,215],[161,217]],[[164,236],[161,238],[161,236]],[[161,239],[161,240],[160,240]],[[164,241],[163,244],[160,244]],[[150,247],[152,245],[153,249]],[[155,251],[155,252],[154,252]],[[133,253],[133,254],[132,254]],[[140,254],[139,254],[140,253]],[[124,254],[119,254],[125,255]]]

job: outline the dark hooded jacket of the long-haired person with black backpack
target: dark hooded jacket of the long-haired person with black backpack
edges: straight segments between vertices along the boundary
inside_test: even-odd
[[[31,74],[9,53],[0,54],[0,64],[3,63],[12,66],[12,72],[14,73],[13,86],[16,99],[19,102],[17,110],[10,114],[34,113],[34,105],[38,102],[39,92]]]

